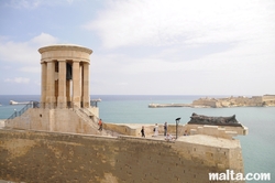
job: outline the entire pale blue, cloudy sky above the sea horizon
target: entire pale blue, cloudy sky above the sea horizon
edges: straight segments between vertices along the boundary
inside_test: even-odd
[[[0,95],[52,44],[94,51],[91,95],[275,94],[274,0],[0,0]]]

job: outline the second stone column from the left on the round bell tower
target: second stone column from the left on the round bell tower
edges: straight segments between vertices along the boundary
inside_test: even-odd
[[[47,78],[46,78],[46,108],[55,108],[55,63],[54,61],[47,62]]]

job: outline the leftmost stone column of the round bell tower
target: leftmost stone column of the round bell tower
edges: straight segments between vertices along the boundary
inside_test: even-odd
[[[45,108],[46,103],[46,93],[47,93],[47,84],[46,84],[46,76],[47,76],[47,65],[43,61],[41,63],[41,108]]]

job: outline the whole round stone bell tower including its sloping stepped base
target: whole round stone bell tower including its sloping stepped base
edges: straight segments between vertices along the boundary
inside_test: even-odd
[[[91,50],[73,44],[48,45],[41,53],[40,106],[7,120],[18,129],[107,134],[98,130],[99,108],[90,105]]]

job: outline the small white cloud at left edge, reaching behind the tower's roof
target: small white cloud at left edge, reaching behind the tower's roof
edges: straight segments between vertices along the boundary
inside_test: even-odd
[[[37,50],[41,46],[57,43],[57,39],[41,33],[26,42],[12,42],[0,40],[0,57],[6,62],[21,62],[21,63],[37,63],[40,61],[40,53]]]

